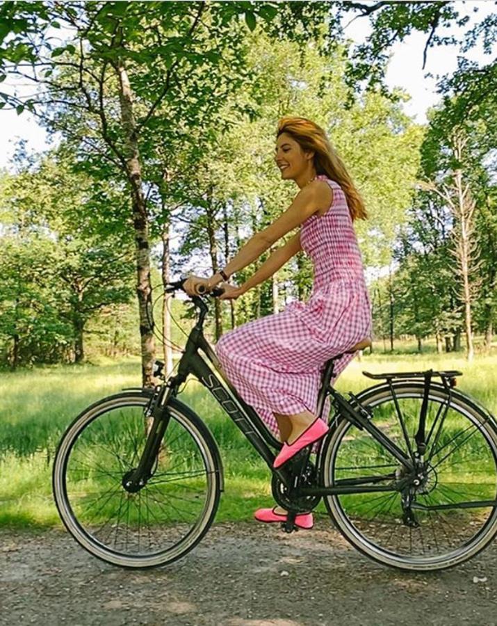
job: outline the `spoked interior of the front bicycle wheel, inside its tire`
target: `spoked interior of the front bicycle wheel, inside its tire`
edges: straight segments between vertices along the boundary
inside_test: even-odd
[[[65,497],[78,520],[74,531],[95,550],[108,546],[119,558],[164,555],[166,562],[168,554],[191,549],[191,537],[204,531],[219,470],[185,424],[171,415],[152,476],[136,492],[127,492],[122,479],[138,467],[145,449],[142,406],[106,408],[76,433],[67,448]]]

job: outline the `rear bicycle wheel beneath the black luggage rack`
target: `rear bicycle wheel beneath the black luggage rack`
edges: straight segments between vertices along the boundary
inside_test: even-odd
[[[394,389],[397,405],[388,387],[371,390],[361,403],[372,410],[373,424],[411,456],[423,384],[396,383]],[[491,504],[497,499],[495,426],[462,394],[454,394],[450,406],[447,400],[443,388],[430,389],[425,472],[417,485],[413,479],[408,509],[398,490],[325,498],[345,538],[384,565],[441,570],[475,556],[497,533],[497,509]],[[389,451],[345,420],[327,440],[322,467],[326,487],[388,487],[409,481],[407,470]]]

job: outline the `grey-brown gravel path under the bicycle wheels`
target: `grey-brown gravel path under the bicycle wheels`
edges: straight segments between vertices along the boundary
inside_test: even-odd
[[[60,530],[0,531],[0,624],[496,626],[496,557],[494,543],[457,568],[407,575],[327,520],[291,535],[254,522],[215,524],[181,561],[136,571]]]

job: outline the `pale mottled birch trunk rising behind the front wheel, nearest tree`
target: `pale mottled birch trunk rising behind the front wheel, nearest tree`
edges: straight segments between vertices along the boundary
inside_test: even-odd
[[[126,172],[131,187],[131,206],[133,208],[133,226],[136,244],[136,273],[138,296],[138,314],[140,320],[140,342],[142,353],[142,385],[153,387],[152,369],[154,367],[154,335],[148,321],[147,310],[150,307],[150,251],[149,225],[145,197],[142,187],[142,168],[138,149],[138,128],[133,113],[133,97],[129,77],[122,60],[115,66],[119,78],[119,99],[121,121],[124,129],[124,152]]]

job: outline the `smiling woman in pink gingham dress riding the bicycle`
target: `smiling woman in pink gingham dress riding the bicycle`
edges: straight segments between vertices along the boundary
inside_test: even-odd
[[[225,289],[221,299],[238,298],[300,250],[311,257],[314,279],[307,302],[293,301],[281,313],[225,332],[215,345],[225,374],[238,393],[284,442],[274,463],[280,467],[327,433],[324,419],[329,415],[329,398],[324,419],[316,417],[321,371],[329,358],[345,353],[370,335],[371,312],[352,226],[355,219],[367,218],[364,202],[325,131],[305,118],[282,118],[275,162],[282,178],[295,181],[300,188],[291,206],[254,234],[223,270],[209,279],[190,275],[184,289],[195,295],[200,284],[210,290],[221,283]],[[295,228],[298,232],[241,287],[223,282]],[[332,384],[355,354],[345,353],[336,360]],[[259,509],[255,517],[263,522],[282,522],[286,513],[277,507]],[[311,528],[311,513],[298,515],[295,523]]]

